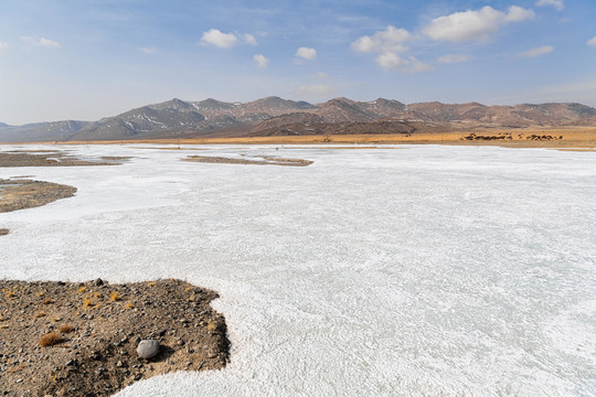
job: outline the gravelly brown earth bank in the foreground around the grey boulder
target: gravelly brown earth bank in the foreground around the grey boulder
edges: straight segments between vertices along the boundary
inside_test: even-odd
[[[211,290],[181,280],[0,280],[0,395],[110,396],[139,379],[230,360]],[[141,340],[157,356],[137,354]]]

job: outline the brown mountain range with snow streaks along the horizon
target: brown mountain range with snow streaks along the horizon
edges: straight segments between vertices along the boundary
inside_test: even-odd
[[[415,133],[469,127],[596,126],[596,109],[575,103],[486,106],[379,98],[321,104],[267,97],[249,103],[171,99],[97,121],[8,126],[0,142],[96,141],[328,133]]]

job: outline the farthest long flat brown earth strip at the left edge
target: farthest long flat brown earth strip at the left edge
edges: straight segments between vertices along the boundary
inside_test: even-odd
[[[17,150],[0,152],[0,167],[79,167],[119,165],[126,157],[103,157],[98,160],[81,160],[63,151]]]

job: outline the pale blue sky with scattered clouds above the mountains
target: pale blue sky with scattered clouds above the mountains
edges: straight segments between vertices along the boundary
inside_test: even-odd
[[[0,122],[171,98],[596,106],[594,0],[1,0]]]

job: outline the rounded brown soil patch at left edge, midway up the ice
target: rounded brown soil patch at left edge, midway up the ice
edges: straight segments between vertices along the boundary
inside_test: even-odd
[[[57,183],[0,179],[0,213],[42,206],[75,193],[76,187]]]

